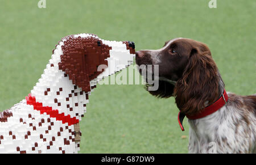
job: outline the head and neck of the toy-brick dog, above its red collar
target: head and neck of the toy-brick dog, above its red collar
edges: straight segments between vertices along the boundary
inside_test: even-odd
[[[97,82],[132,64],[134,48],[133,42],[102,40],[88,33],[63,37],[31,97],[81,120]]]

